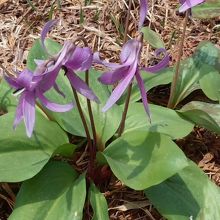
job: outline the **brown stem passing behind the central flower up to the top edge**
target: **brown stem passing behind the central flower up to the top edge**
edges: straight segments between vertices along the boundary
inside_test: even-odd
[[[132,0],[129,0],[127,18],[126,18],[126,23],[125,23],[125,34],[124,34],[124,40],[123,40],[124,43],[127,41],[128,25],[129,25],[130,12],[131,12],[131,3],[132,3]],[[125,120],[126,120],[126,117],[127,117],[128,107],[129,107],[129,102],[130,102],[130,97],[131,97],[131,91],[132,91],[132,83],[128,87],[127,98],[126,98],[126,102],[125,102],[125,106],[124,106],[124,111],[123,111],[123,114],[122,114],[119,129],[118,129],[118,137],[121,137],[121,135],[124,131]]]

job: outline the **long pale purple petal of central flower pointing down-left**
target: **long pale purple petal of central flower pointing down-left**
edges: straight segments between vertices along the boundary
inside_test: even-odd
[[[103,112],[106,112],[109,108],[111,108],[118,101],[118,99],[124,93],[124,91],[126,90],[128,85],[131,83],[131,81],[132,81],[132,79],[135,75],[136,70],[137,70],[137,62],[134,63],[134,65],[132,65],[130,67],[130,70],[129,70],[127,76],[113,90],[113,92],[112,92],[111,96],[109,97],[107,103],[105,104],[105,106],[102,109]]]

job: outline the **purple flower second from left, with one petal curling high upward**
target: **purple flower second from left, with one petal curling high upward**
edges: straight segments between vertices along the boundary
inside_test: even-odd
[[[43,48],[45,47],[45,38],[47,33],[51,28],[58,22],[58,20],[51,20],[47,22],[41,33],[41,42]],[[49,54],[49,52],[47,51]],[[81,95],[85,96],[87,99],[99,102],[98,97],[94,92],[88,87],[88,85],[76,74],[76,71],[86,71],[92,66],[93,53],[89,47],[78,47],[71,41],[65,41],[64,46],[58,55],[54,56],[56,62],[53,66],[53,71],[51,76],[48,77],[53,79],[53,83],[56,81],[57,75],[61,68],[65,70],[65,74],[71,83],[71,86],[79,92]],[[45,85],[47,86],[47,85]]]

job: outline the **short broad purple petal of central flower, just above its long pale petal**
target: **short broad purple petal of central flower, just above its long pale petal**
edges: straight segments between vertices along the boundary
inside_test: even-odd
[[[105,72],[99,77],[99,81],[105,85],[113,85],[124,78],[129,71],[129,66],[118,68],[114,71]]]

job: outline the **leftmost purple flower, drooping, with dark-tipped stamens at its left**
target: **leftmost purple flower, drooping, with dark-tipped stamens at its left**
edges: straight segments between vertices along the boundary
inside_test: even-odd
[[[44,96],[45,90],[40,87],[41,83],[45,82],[44,76],[46,75],[42,74],[36,76],[35,72],[33,73],[28,69],[19,72],[15,77],[5,76],[9,85],[16,90],[14,93],[21,94],[16,110],[14,129],[24,119],[28,137],[31,137],[34,129],[36,99],[39,99],[46,108],[55,112],[65,112],[73,108],[72,103],[59,105],[50,102]],[[49,80],[49,78],[47,80]]]

